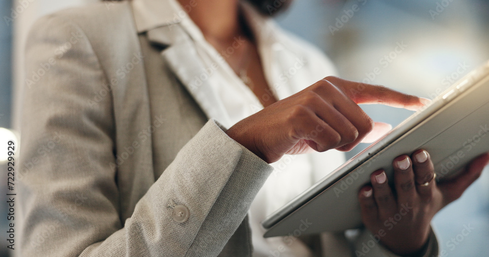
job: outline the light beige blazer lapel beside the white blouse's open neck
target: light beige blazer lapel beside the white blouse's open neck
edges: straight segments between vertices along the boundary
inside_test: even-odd
[[[229,126],[230,119],[218,96],[211,89],[209,69],[198,56],[196,45],[179,24],[160,26],[147,31],[152,44],[163,47],[161,57],[200,105],[208,119]]]

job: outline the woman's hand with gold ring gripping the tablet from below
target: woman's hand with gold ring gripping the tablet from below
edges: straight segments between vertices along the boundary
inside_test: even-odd
[[[415,151],[411,157],[394,159],[394,188],[385,172],[372,173],[372,186],[359,192],[362,220],[367,229],[385,235],[380,242],[393,253],[412,255],[423,249],[430,233],[433,216],[448,203],[459,198],[481,175],[489,154],[472,160],[456,178],[437,184],[429,154]],[[395,193],[394,193],[395,192]]]

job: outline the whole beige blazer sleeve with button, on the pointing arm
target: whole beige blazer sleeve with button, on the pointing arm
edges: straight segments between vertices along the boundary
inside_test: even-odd
[[[26,76],[22,257],[217,256],[272,171],[211,119],[121,220],[110,163],[124,135],[111,101],[90,103],[108,83],[84,32],[56,16],[39,20]]]

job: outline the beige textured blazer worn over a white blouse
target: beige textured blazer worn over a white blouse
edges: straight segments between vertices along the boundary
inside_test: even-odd
[[[208,120],[222,110],[205,81],[192,86],[205,68],[164,4],[94,4],[31,29],[19,256],[252,255],[246,213],[272,168]],[[310,46],[273,35],[304,56],[311,78],[332,69]],[[286,65],[290,49],[279,49],[282,61],[264,61]],[[164,89],[161,115],[150,101],[156,87]],[[156,133],[167,136],[155,142]],[[328,248],[331,256],[353,253],[334,238],[344,243]],[[434,242],[426,256],[437,252]],[[366,256],[384,254],[376,245]]]

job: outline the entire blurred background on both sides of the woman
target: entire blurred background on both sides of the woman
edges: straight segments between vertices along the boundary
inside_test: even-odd
[[[23,48],[32,22],[96,0],[0,0],[0,256],[6,251],[6,142],[20,135]],[[279,1],[279,0],[277,0]],[[433,99],[489,59],[488,0],[295,0],[276,20],[323,49],[340,77]],[[325,74],[327,76],[327,74]],[[489,96],[488,96],[489,97]],[[376,121],[412,114],[365,105]],[[354,156],[367,145],[347,153]],[[18,153],[17,153],[18,156]],[[10,192],[9,192],[10,193]],[[447,257],[489,256],[489,170],[433,221]],[[468,234],[465,227],[473,228]]]

